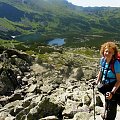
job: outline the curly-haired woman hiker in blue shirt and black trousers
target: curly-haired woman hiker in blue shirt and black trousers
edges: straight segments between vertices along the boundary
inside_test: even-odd
[[[118,88],[120,86],[120,62],[117,60],[118,48],[114,42],[106,42],[101,46],[100,53],[102,55],[100,65],[101,69],[98,73],[96,84],[98,90],[105,95],[107,114],[104,115],[105,120],[115,120],[117,112],[117,104],[120,105],[120,94]],[[113,64],[114,71],[112,71]]]

